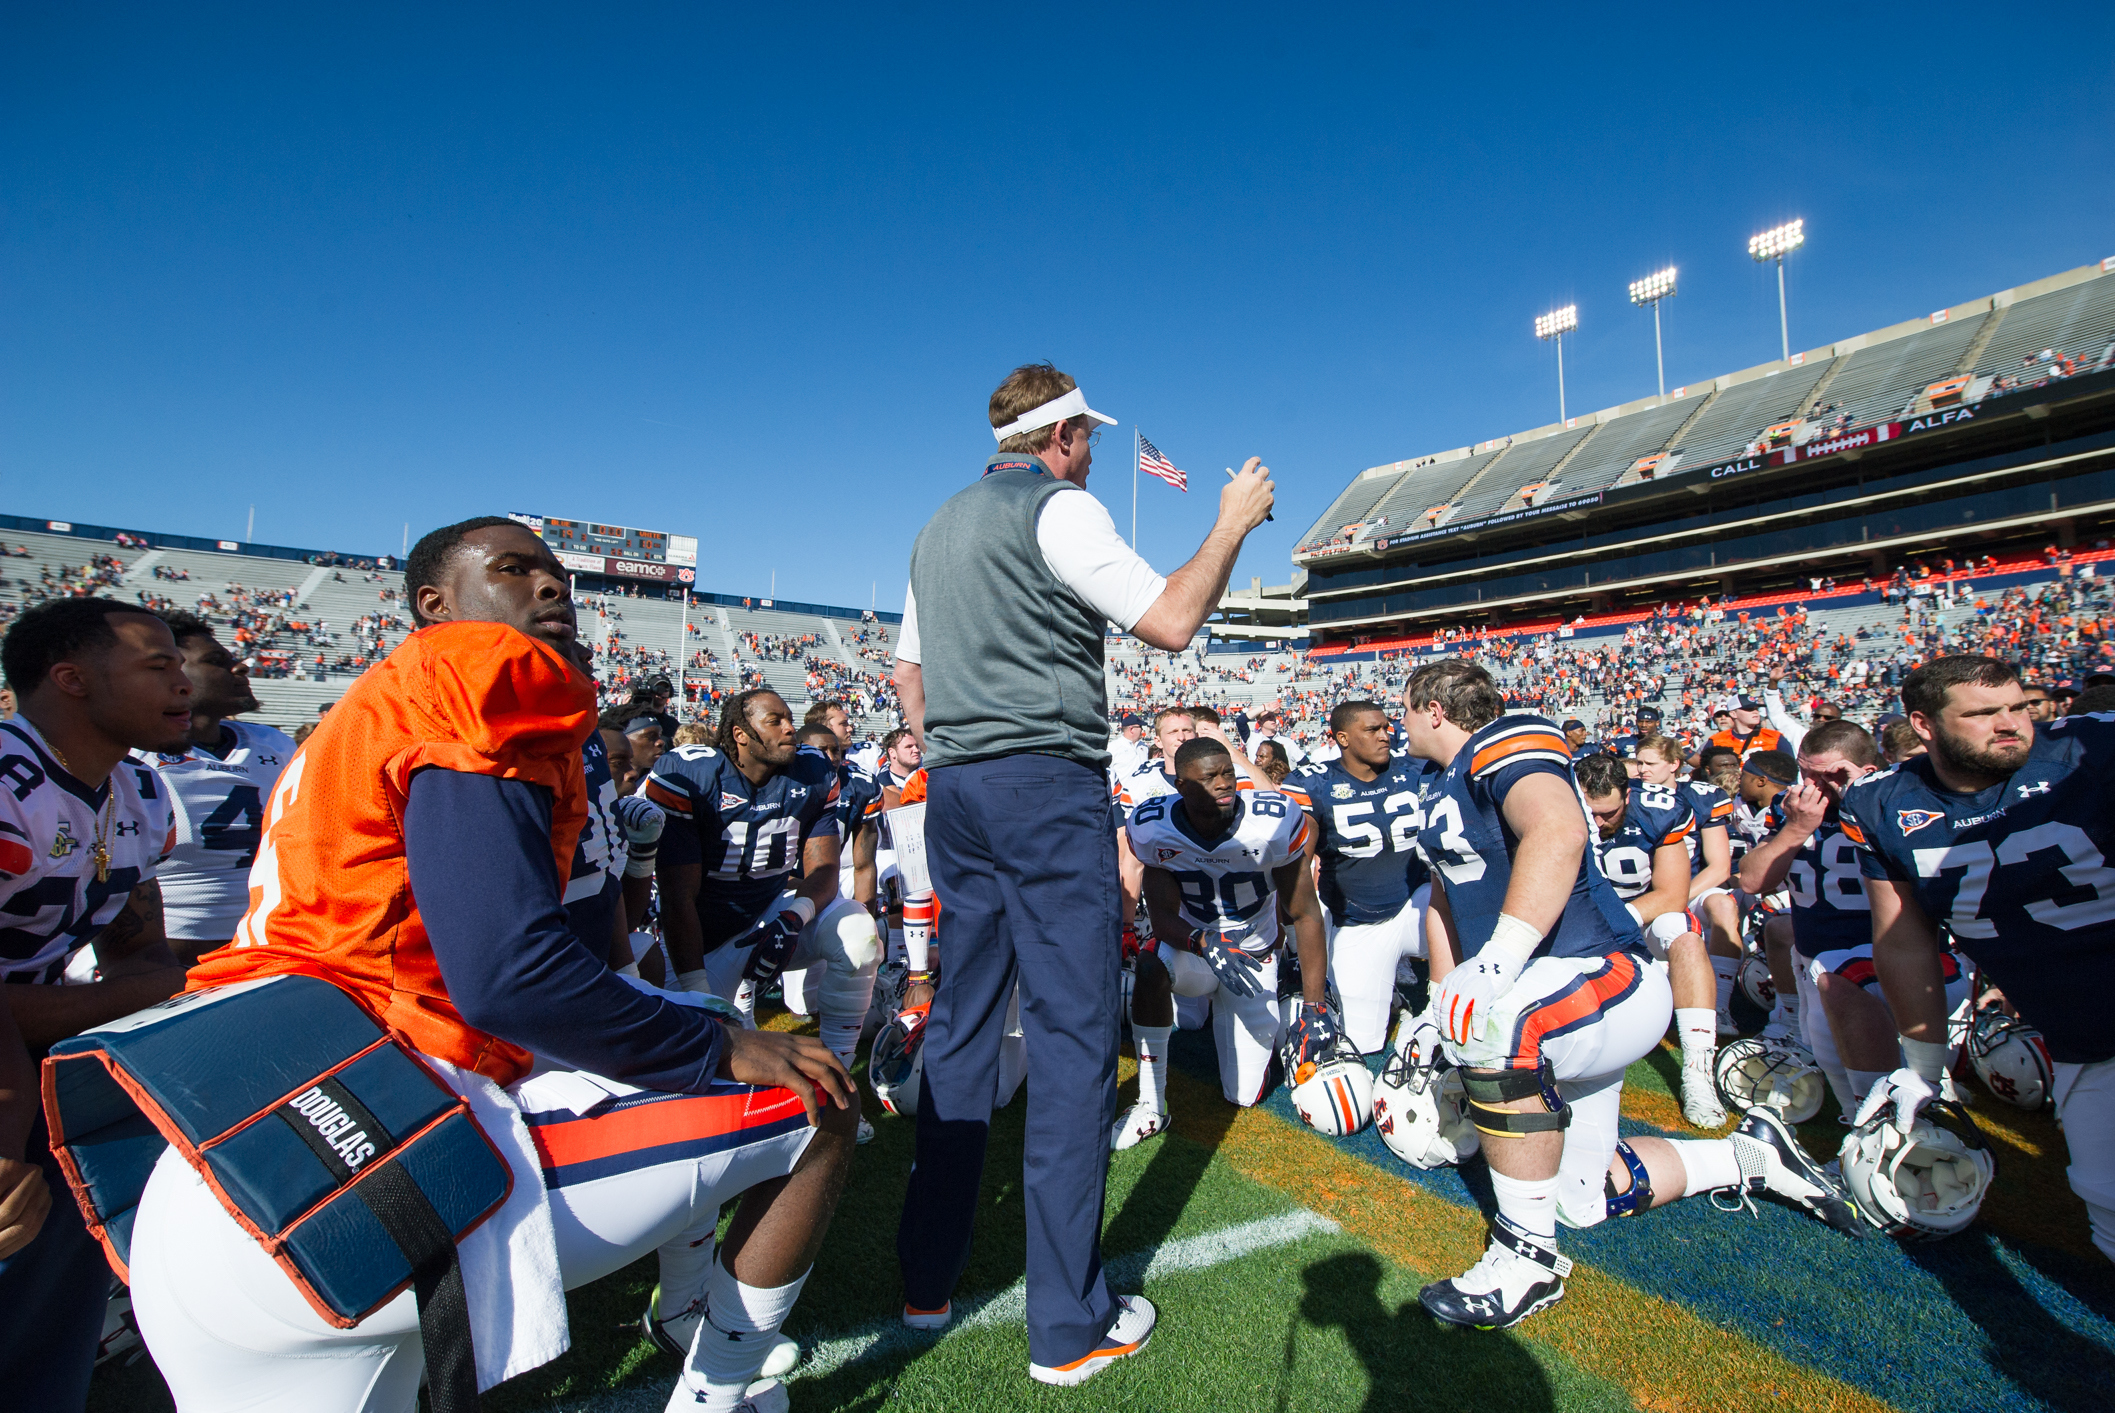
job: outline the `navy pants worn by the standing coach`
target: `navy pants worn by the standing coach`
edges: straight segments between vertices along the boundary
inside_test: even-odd
[[[1108,781],[1055,755],[928,772],[939,990],[924,1036],[918,1161],[903,1199],[903,1297],[939,1309],[969,1261],[1007,1001],[1028,1051],[1028,1354],[1102,1343],[1102,1199],[1117,1108],[1119,882]]]

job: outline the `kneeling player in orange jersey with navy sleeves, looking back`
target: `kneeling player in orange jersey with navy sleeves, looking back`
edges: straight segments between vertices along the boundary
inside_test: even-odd
[[[459,1168],[436,1182],[431,1163],[412,1159],[440,1125],[391,1140],[360,1104],[387,1113],[402,1094],[376,1098],[370,1085],[366,1100],[341,1100],[362,1087],[357,1060],[311,1070],[309,1094],[241,1130],[281,1155],[296,1149],[247,1180],[243,1155],[256,1149],[214,1149],[216,1187],[167,1149],[131,1229],[146,1345],[186,1413],[408,1413],[421,1375],[436,1407],[467,1407],[565,1352],[567,1288],[658,1250],[666,1324],[687,1324],[668,1407],[785,1409],[783,1386],[753,1379],[844,1189],[859,1117],[850,1079],[816,1041],[723,1026],[628,984],[573,933],[560,888],[586,819],[580,742],[594,728],[594,683],[575,664],[567,575],[544,542],[510,520],[470,520],[419,542],[406,582],[421,630],[345,694],[279,778],[256,901],[190,988],[300,996],[296,984],[330,981],[389,1028],[362,1056],[391,1043],[417,1051],[410,1068],[461,1096],[486,1142],[459,1144]],[[201,998],[192,1024],[235,1005]],[[180,1058],[205,1081],[224,1051]],[[376,1134],[387,1161],[374,1142],[355,1149]],[[296,1161],[302,1142],[321,1168]],[[486,1174],[503,1201],[478,1221],[446,1218],[480,1163],[503,1166]],[[326,1320],[315,1290],[368,1288],[396,1259],[389,1240],[372,1223],[338,1227],[324,1250],[336,1271],[302,1269],[296,1284],[296,1263],[275,1263],[216,1195],[283,1206],[309,1199],[319,1174],[330,1174],[321,1191],[347,1195],[341,1214],[366,1195],[406,1256],[406,1242],[431,1244],[459,1254],[459,1273],[450,1263],[436,1286],[438,1267],[421,1259],[417,1301],[410,1282],[396,1299],[383,1282],[385,1303]],[[404,1201],[406,1187],[419,1204]],[[734,1197],[715,1252],[719,1208]],[[434,1345],[427,1366],[421,1326],[431,1341],[450,1322],[467,1322],[472,1339]]]

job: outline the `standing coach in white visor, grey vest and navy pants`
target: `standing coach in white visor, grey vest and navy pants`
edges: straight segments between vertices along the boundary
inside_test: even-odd
[[[1117,624],[1153,647],[1189,647],[1271,510],[1271,478],[1250,457],[1220,491],[1203,548],[1163,580],[1087,495],[1093,440],[1115,419],[1070,377],[1015,368],[990,417],[998,455],[912,546],[897,641],[897,687],[924,745],[945,958],[897,1259],[903,1322],[943,1328],[1019,981],[1028,1373],[1081,1383],[1142,1350],[1157,1318],[1102,1280],[1121,969],[1102,637]]]

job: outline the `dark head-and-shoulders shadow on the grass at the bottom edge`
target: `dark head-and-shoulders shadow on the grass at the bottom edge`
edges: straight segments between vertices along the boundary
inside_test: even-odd
[[[1301,1280],[1301,1318],[1341,1328],[1366,1371],[1362,1413],[1400,1409],[1555,1409],[1550,1381],[1535,1358],[1508,1333],[1447,1328],[1417,1301],[1390,1309],[1381,1299],[1385,1269],[1371,1252],[1316,1261]],[[1292,1375],[1299,1326],[1286,1328],[1286,1377]],[[1280,1390],[1282,1409],[1301,1407]]]

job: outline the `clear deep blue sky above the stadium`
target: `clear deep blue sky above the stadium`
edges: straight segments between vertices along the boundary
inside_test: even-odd
[[[1362,467],[2115,254],[2115,8],[8,6],[0,510],[396,550],[539,510],[901,605],[1051,357],[1180,563]]]

